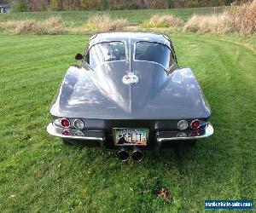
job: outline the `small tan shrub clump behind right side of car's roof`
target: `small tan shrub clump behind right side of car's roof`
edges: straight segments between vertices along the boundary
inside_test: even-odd
[[[143,27],[177,27],[181,26],[183,21],[172,14],[154,14],[148,22],[143,23]]]

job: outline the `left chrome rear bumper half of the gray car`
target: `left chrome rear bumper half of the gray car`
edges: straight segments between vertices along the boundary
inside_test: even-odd
[[[62,135],[61,131],[63,129],[56,127],[54,124],[49,123],[47,126],[47,132],[49,135],[53,135],[56,137],[61,137],[63,139],[69,139],[69,140],[82,140],[82,141],[104,141],[104,133],[103,131],[86,131],[86,134],[84,136],[77,136],[77,135]]]

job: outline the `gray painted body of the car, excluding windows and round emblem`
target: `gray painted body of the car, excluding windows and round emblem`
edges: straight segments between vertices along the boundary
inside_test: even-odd
[[[137,41],[170,42],[161,34],[102,33],[90,46],[103,41],[125,41],[130,57],[109,61],[95,70],[71,66],[56,95],[50,113],[56,117],[98,119],[181,119],[209,118],[211,111],[193,72],[173,72],[157,63],[133,60]],[[125,84],[122,78],[134,72],[138,83]]]

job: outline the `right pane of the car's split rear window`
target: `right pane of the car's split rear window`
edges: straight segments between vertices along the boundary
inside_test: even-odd
[[[137,42],[135,60],[154,61],[166,69],[173,63],[171,49],[164,44],[153,42]]]

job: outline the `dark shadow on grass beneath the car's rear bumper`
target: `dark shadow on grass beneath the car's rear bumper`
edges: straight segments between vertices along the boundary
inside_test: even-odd
[[[210,144],[210,145],[209,145]],[[65,147],[73,147],[74,149],[87,149],[90,152],[90,148],[88,146],[84,146],[83,143],[79,142],[72,142],[69,143],[67,141],[64,141],[63,146]],[[177,169],[180,172],[183,172],[183,170],[186,170],[186,161],[193,160],[198,161],[198,164],[216,164],[218,159],[211,158],[209,160],[211,154],[209,152],[212,152],[212,149],[218,150],[218,147],[215,145],[212,145],[208,141],[170,141],[170,143],[166,143],[164,147],[161,147],[159,150],[145,150],[143,151],[143,160],[141,162],[135,162],[137,164],[140,164],[141,166],[147,166],[150,167],[152,164],[162,164],[165,165],[166,163],[171,163],[172,165],[176,166]],[[119,162],[119,158],[117,157],[117,153],[119,149],[113,150],[113,149],[105,149],[100,147],[94,147],[92,148],[91,152],[103,152],[106,153],[105,158],[102,159],[102,161],[105,160],[111,160],[113,161],[114,158],[116,158],[117,163]],[[130,157],[132,153],[132,149],[129,150]],[[108,156],[108,157],[106,157]],[[129,158],[127,162],[120,162],[123,164],[127,164],[131,162],[132,159]],[[148,168],[149,169],[149,168]]]

